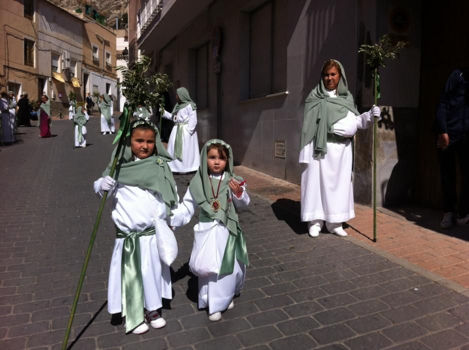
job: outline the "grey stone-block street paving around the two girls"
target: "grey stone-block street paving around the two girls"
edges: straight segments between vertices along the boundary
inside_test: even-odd
[[[92,183],[113,148],[114,137],[100,135],[96,116],[87,126],[86,148],[73,149],[69,120],[54,120],[56,137],[41,139],[38,128],[21,127],[19,142],[0,146],[2,349],[61,346],[99,206]],[[106,307],[115,236],[107,204],[70,348],[469,349],[467,296],[424,269],[402,266],[395,255],[356,244],[363,241],[354,234],[310,238],[298,220],[296,185],[282,181],[288,193],[277,186],[272,194],[273,187],[256,186],[265,177],[237,170],[252,184],[252,201],[240,213],[251,264],[235,307],[218,322],[197,308],[197,278],[187,265],[194,218],[176,231],[179,256],[172,265],[174,297],[163,307],[166,327],[125,335]],[[191,175],[175,177],[183,195]],[[366,209],[358,209],[357,220],[365,220]],[[361,228],[350,225],[349,232]]]

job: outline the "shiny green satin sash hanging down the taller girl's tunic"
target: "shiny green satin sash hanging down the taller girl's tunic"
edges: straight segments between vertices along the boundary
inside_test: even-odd
[[[124,238],[121,262],[122,317],[126,316],[126,332],[145,320],[140,237],[155,234],[155,227],[142,232],[124,232],[116,227],[116,238]]]

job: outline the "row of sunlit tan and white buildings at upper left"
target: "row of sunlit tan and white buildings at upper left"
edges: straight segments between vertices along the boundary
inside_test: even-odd
[[[52,114],[68,113],[70,93],[117,97],[116,35],[91,17],[48,0],[0,1],[0,88],[17,98],[46,93]]]

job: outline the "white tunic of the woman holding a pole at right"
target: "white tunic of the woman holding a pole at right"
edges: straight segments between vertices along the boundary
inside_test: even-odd
[[[335,90],[328,93],[336,97]],[[334,133],[351,137],[357,129],[372,125],[372,118],[370,113],[348,111],[333,125]],[[342,222],[355,217],[352,151],[350,139],[327,142],[327,153],[319,159],[313,158],[314,140],[300,151],[299,162],[307,164],[301,174],[301,221]]]

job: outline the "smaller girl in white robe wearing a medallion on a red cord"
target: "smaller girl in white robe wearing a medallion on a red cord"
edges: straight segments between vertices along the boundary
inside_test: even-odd
[[[188,223],[200,206],[189,268],[199,277],[199,308],[208,307],[209,319],[216,321],[234,306],[233,296],[244,284],[249,261],[236,210],[249,204],[249,195],[244,180],[234,177],[229,144],[209,140],[200,158],[183,201],[172,210],[171,225]]]

